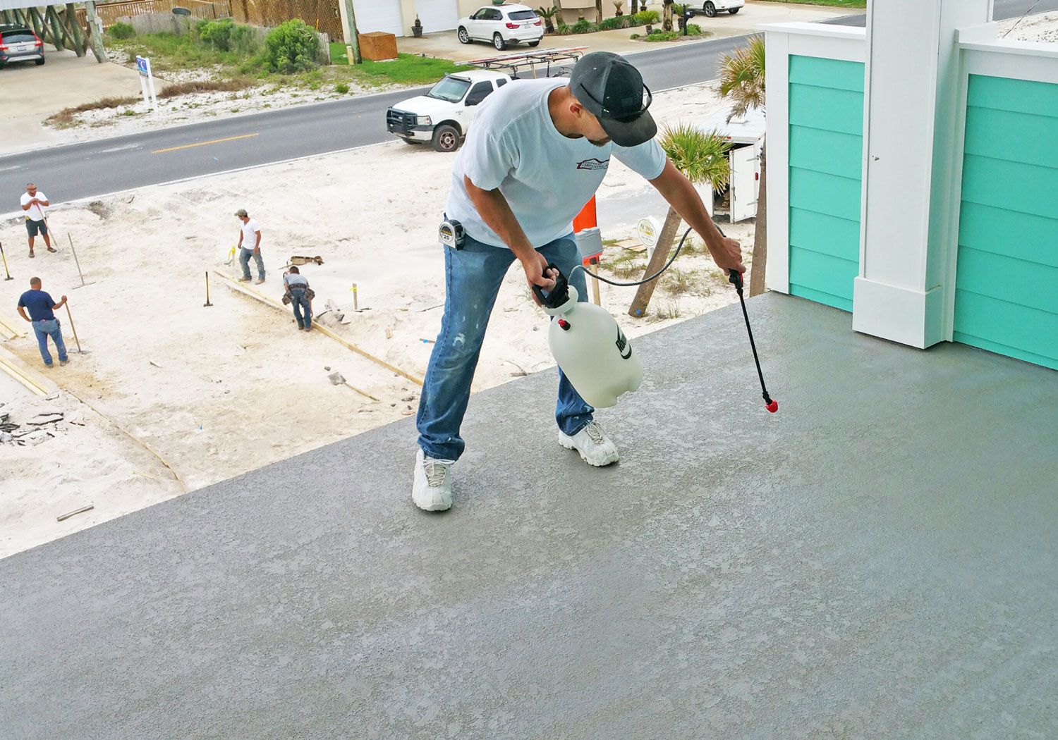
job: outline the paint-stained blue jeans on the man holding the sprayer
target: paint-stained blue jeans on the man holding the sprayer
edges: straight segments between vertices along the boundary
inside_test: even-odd
[[[557,264],[566,277],[581,263],[572,234],[536,251]],[[469,236],[462,249],[444,247],[444,316],[430,355],[416,418],[419,446],[427,457],[458,460],[462,455],[466,443],[459,437],[459,426],[467,413],[481,340],[496,293],[514,259],[510,249],[484,244]],[[578,271],[569,282],[577,288],[580,299],[586,301],[583,271]],[[546,322],[543,312],[539,320]],[[566,434],[576,434],[591,421],[592,411],[559,370],[559,402],[554,410],[559,428]]]

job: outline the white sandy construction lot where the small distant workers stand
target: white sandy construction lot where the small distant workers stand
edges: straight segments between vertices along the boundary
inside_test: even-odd
[[[704,118],[719,107],[712,90],[698,86],[658,95],[652,110],[663,123]],[[61,252],[38,249],[32,261],[21,223],[5,222],[0,240],[17,279],[0,282],[0,310],[14,319],[17,296],[31,274],[40,275],[56,299],[69,296],[87,350],[48,376],[157,450],[189,489],[231,478],[411,414],[418,401],[417,386],[405,378],[320,332],[295,331],[291,314],[217,279],[214,306],[202,306],[206,271],[235,274],[224,264],[238,238],[234,210],[245,207],[261,225],[269,271],[261,290],[281,295],[291,255],[322,256],[324,265],[303,267],[317,294],[315,309],[329,299],[347,314],[344,325],[333,313],[323,320],[421,377],[444,300],[436,228],[453,159],[394,142],[60,206],[50,221]],[[290,183],[308,186],[293,191]],[[604,238],[627,239],[644,216],[663,219],[652,193],[615,163],[599,193],[600,214],[616,214],[600,216]],[[725,227],[748,251],[752,222]],[[68,234],[90,283],[83,288],[74,288],[79,279]],[[618,256],[636,257],[613,245],[605,259]],[[642,262],[641,256],[632,260]],[[625,315],[632,289],[602,285],[603,306],[632,337],[699,315],[735,299],[711,264],[700,247],[681,256],[672,275],[682,286],[659,286],[649,319]],[[349,310],[354,282],[366,309],[360,313]],[[528,296],[515,264],[493,312],[475,391],[553,365],[547,320]],[[73,348],[68,326],[65,334]],[[32,338],[3,346],[40,366]],[[328,374],[335,370],[380,401],[332,385]],[[50,402],[21,390],[11,397],[14,421],[56,407],[79,412],[85,426],[63,422],[39,444],[0,444],[0,556],[181,493],[154,456],[68,393]],[[408,445],[411,459],[412,440]],[[55,521],[87,503],[95,510]]]

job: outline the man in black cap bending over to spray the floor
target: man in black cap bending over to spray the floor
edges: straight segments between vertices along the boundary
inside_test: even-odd
[[[595,195],[610,155],[645,178],[705,240],[717,266],[745,272],[738,242],[716,229],[694,186],[654,141],[650,90],[617,54],[582,57],[569,79],[518,80],[481,104],[452,172],[445,218],[462,234],[445,240],[441,331],[419,399],[412,498],[425,511],[452,505],[451,467],[463,451],[459,426],[496,293],[514,259],[530,288],[554,286],[548,263],[587,300],[573,217]],[[455,229],[458,230],[458,229]],[[443,229],[442,229],[443,232]],[[594,408],[559,371],[559,443],[586,463],[619,455]]]

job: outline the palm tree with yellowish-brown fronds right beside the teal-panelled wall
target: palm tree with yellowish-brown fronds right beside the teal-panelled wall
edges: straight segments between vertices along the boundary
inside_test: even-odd
[[[750,108],[764,108],[764,39],[750,39],[749,45],[725,54],[720,59],[720,97],[732,101],[731,118]],[[761,192],[756,200],[756,225],[753,232],[753,258],[749,270],[749,295],[764,293],[764,266],[768,261],[767,167],[761,149]]]

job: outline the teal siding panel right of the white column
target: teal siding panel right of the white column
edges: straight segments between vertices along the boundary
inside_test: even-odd
[[[970,75],[955,341],[1058,369],[1058,85]]]

